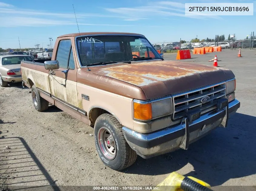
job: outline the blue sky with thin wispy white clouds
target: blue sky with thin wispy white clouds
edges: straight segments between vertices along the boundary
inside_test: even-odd
[[[49,44],[53,38],[78,32],[134,32],[144,34],[151,43],[214,38],[215,34],[235,33],[239,39],[256,33],[256,1],[229,0],[226,3],[254,3],[254,16],[185,16],[185,3],[198,1],[79,1],[79,0],[0,0],[0,47],[22,48]],[[208,1],[209,2],[209,1]],[[214,0],[212,2],[222,2]]]

